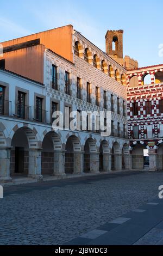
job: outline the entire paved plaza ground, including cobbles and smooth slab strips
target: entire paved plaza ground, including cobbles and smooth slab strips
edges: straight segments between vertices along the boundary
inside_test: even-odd
[[[163,244],[163,172],[4,187],[0,245]]]

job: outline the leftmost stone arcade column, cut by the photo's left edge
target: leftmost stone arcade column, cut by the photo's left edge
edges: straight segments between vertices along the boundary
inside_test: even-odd
[[[0,182],[12,180],[10,177],[10,151],[11,148],[0,148]]]

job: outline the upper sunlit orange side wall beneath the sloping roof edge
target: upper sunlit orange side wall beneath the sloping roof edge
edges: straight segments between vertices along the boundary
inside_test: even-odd
[[[1,44],[3,47],[5,47],[40,38],[40,44],[45,45],[46,48],[50,48],[52,51],[60,54],[62,57],[65,57],[72,62],[72,33],[73,26],[67,25],[60,28],[54,28],[49,31],[2,42]]]

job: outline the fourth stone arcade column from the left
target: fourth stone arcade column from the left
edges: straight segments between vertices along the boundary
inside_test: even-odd
[[[84,163],[84,152],[74,152],[73,153],[73,161],[74,161],[74,174],[82,174],[83,173],[83,163]]]

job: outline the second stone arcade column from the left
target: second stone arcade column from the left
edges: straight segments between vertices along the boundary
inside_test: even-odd
[[[28,177],[41,180],[41,151],[42,149],[29,150]]]

